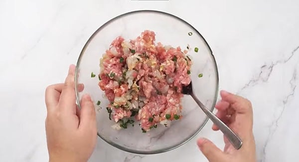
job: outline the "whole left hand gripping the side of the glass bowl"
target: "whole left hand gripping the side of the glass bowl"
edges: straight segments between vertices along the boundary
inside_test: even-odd
[[[76,105],[75,65],[70,65],[65,83],[46,88],[45,121],[50,162],[87,162],[97,140],[96,113],[89,95]],[[83,85],[78,86],[82,91]]]

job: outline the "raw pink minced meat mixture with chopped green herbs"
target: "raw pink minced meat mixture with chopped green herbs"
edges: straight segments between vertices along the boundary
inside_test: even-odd
[[[145,30],[134,40],[119,36],[100,59],[99,87],[115,129],[137,125],[146,133],[181,116],[182,86],[191,82],[191,60],[180,47],[155,43]]]

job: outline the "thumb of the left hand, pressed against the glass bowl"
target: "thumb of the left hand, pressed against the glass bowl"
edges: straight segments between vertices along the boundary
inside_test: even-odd
[[[83,95],[81,99],[79,129],[96,130],[96,111],[89,95]]]

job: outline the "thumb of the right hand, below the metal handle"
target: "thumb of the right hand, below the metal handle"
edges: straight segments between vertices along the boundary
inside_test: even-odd
[[[200,138],[197,140],[197,145],[209,162],[224,162],[225,154],[210,140]]]

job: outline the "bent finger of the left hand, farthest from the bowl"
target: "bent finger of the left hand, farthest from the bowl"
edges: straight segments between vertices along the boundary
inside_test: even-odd
[[[46,88],[45,102],[47,111],[49,111],[51,108],[54,108],[58,104],[62,88],[63,83],[50,85]]]

